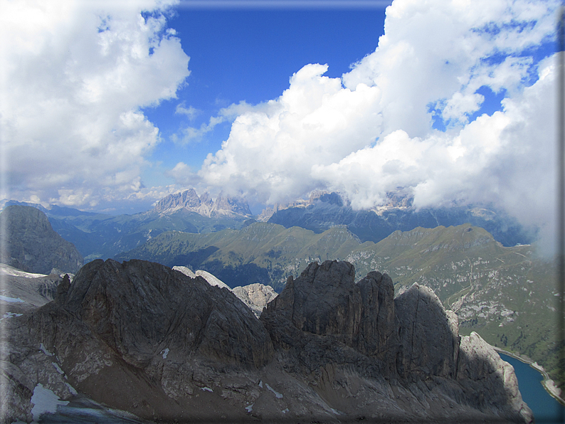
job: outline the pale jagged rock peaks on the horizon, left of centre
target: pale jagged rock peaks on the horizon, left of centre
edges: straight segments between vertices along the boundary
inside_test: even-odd
[[[214,201],[210,194],[204,193],[198,196],[194,189],[165,196],[157,202],[157,205],[151,212],[166,214],[181,209],[208,217],[251,216],[251,211],[245,198],[229,197],[220,193]]]

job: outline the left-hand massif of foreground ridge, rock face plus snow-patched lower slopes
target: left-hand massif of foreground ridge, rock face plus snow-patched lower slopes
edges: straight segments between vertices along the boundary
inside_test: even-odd
[[[63,400],[73,396],[69,386],[142,418],[210,419],[215,407],[199,408],[203,388],[213,391],[226,369],[256,385],[248,373],[273,358],[268,332],[250,309],[202,277],[139,260],[95,260],[67,282],[56,300],[6,324],[1,360],[30,380],[8,376],[21,396],[6,422],[27,419],[25,388],[38,384]],[[245,416],[245,409],[232,414]]]

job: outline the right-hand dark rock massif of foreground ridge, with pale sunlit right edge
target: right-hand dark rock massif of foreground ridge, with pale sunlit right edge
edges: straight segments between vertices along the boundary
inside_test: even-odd
[[[394,299],[388,275],[369,272],[355,284],[347,262],[312,263],[297,280],[289,278],[260,320],[293,373],[314,373],[323,381],[328,367],[334,375],[355,370],[365,378],[394,381],[393,392],[399,384],[401,393],[421,405],[431,405],[439,393],[448,396],[475,411],[458,415],[465,420],[485,419],[477,410],[490,419],[532,420],[509,365],[477,334],[460,338],[456,315],[428,287],[413,285]],[[433,385],[422,387],[423,381]],[[320,388],[320,396],[331,396],[335,388],[335,382],[330,393]],[[386,407],[394,410],[393,403]],[[434,419],[426,414],[419,419]]]

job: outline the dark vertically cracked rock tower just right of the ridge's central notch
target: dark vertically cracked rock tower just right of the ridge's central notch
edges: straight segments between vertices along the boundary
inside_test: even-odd
[[[359,284],[354,278],[353,265],[337,261],[312,263],[297,280],[290,277],[260,317],[275,345],[296,346],[307,334],[317,334],[381,364],[390,360],[398,344],[392,280],[380,272],[370,272]]]

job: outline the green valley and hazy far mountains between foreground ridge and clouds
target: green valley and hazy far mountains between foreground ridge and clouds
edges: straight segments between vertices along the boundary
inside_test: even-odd
[[[6,202],[4,211],[26,207],[10,203],[17,202]],[[564,386],[565,364],[559,364],[558,358],[565,348],[556,343],[555,334],[556,266],[540,258],[535,245],[527,244],[531,231],[487,209],[416,212],[399,198],[381,211],[354,212],[337,194],[316,194],[309,201],[253,217],[242,199],[218,196],[212,201],[194,190],[167,196],[151,211],[132,216],[57,206],[43,209],[63,239],[80,246],[83,255],[88,253],[84,255],[87,265],[96,258],[114,258],[184,268],[188,277],[216,279],[221,284],[211,284],[220,287],[226,283],[255,317],[262,315],[276,292],[285,290],[289,276],[297,279],[311,263],[326,260],[346,260],[359,276],[376,270],[389,275],[395,297],[414,290],[415,283],[430,287],[442,306],[456,314],[459,334],[480,334],[492,346],[537,361],[557,386]],[[465,223],[470,216],[494,228],[497,237]],[[412,227],[421,221],[432,228]],[[438,222],[457,225],[437,226]],[[41,272],[23,268],[41,274],[51,268],[78,270],[68,265],[46,265]],[[55,287],[63,281],[58,275],[53,278]],[[14,280],[14,287],[18,284]],[[48,290],[51,295],[46,299],[51,300],[54,289]],[[2,295],[19,297],[9,292]],[[9,317],[26,312],[17,302],[9,306]]]

